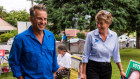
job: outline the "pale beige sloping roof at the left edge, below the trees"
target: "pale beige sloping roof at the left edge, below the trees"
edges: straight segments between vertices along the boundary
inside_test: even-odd
[[[0,18],[0,32],[6,32],[10,30],[17,30],[17,28]]]

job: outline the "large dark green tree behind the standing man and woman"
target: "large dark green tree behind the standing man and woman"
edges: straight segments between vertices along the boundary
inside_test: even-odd
[[[78,21],[80,30],[94,30],[96,13],[100,10],[107,10],[113,16],[110,29],[118,33],[137,31],[137,38],[140,39],[138,32],[140,28],[139,0],[43,0],[41,3],[48,8],[48,21],[53,23],[50,29],[54,33],[74,26],[73,18],[78,18],[76,21]],[[86,23],[84,18],[86,15],[91,16],[90,23]]]

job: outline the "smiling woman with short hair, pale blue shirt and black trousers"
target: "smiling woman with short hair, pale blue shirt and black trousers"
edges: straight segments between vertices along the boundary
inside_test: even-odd
[[[101,10],[95,16],[97,29],[88,33],[82,57],[81,79],[111,79],[111,57],[118,65],[121,76],[121,65],[118,36],[109,29],[112,23],[112,15],[106,10]]]

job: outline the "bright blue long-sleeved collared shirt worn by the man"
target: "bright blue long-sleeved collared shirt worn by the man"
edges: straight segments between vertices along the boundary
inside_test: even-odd
[[[32,28],[18,34],[9,55],[9,65],[13,76],[24,79],[53,79],[57,65],[54,35],[44,30],[43,43],[38,41]]]

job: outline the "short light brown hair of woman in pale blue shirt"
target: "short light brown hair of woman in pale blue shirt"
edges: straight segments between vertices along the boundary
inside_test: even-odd
[[[100,20],[105,20],[105,22],[107,24],[112,24],[113,17],[109,11],[101,10],[96,14],[95,20],[96,20],[96,22],[98,22]]]

